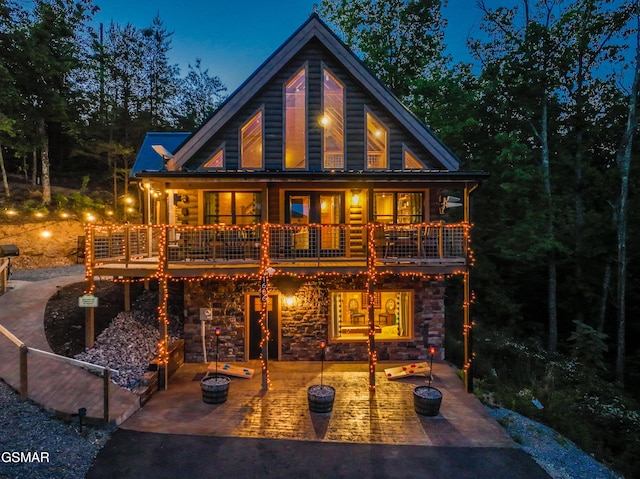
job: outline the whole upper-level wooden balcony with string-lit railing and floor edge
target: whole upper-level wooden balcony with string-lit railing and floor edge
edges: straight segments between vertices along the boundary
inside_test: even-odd
[[[89,226],[96,275],[174,277],[282,272],[448,274],[469,263],[469,225]]]

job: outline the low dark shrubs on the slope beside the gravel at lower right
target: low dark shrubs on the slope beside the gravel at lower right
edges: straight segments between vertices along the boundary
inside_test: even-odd
[[[474,391],[541,421],[628,477],[637,477],[640,405],[594,374],[593,366],[550,355],[535,341],[501,334],[477,341]],[[544,409],[532,401],[539,400]]]

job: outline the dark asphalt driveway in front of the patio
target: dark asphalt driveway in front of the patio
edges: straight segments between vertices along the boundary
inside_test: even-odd
[[[87,479],[549,479],[517,448],[394,446],[120,429]]]

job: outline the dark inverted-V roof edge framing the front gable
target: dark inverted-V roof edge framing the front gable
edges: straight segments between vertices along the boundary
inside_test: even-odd
[[[457,170],[460,160],[433,132],[411,113],[362,63],[362,61],[313,13],[213,115],[175,151],[169,169],[180,169],[215,135],[248,101],[250,101],[309,41],[317,39],[333,53],[394,118],[448,170]]]

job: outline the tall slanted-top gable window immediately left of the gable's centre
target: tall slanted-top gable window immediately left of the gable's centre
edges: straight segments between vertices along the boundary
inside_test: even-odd
[[[306,72],[300,70],[285,88],[285,152],[284,167],[301,169],[307,166],[307,87]]]

